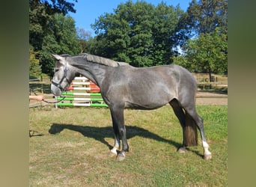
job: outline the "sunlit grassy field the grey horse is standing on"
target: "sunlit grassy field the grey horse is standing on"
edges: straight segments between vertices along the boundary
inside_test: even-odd
[[[213,159],[203,148],[177,153],[180,124],[171,107],[126,110],[129,153],[114,143],[108,108],[29,108],[30,186],[228,186],[228,106],[198,105]],[[52,132],[52,134],[49,133]]]

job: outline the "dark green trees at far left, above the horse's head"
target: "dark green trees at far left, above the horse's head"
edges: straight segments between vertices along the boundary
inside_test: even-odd
[[[79,52],[75,22],[67,12],[76,12],[74,4],[63,0],[29,1],[29,43],[40,61],[42,72],[52,76],[51,54]],[[30,67],[32,68],[32,67]]]

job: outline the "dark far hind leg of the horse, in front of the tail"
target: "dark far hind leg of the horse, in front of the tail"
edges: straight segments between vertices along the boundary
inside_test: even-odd
[[[179,147],[178,152],[185,153],[186,152],[186,145],[185,145],[186,116],[184,114],[183,108],[180,106],[180,103],[177,101],[177,99],[172,99],[171,102],[169,103],[174,110],[174,114],[177,116],[178,120],[180,121],[180,126],[182,127],[182,132],[183,132],[183,144],[181,147]]]

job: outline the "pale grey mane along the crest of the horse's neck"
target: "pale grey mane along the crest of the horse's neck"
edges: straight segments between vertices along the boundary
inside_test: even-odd
[[[83,57],[85,58],[86,61],[94,62],[97,64],[103,64],[109,67],[119,67],[119,66],[125,66],[129,65],[126,62],[121,62],[121,61],[113,61],[109,58],[103,58],[97,55],[91,55],[88,53],[82,53]]]

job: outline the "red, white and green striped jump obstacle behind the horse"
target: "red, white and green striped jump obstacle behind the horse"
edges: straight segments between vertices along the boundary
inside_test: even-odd
[[[91,106],[91,107],[107,107],[100,93],[100,88],[86,77],[75,77],[70,83],[67,91],[62,92],[64,99],[55,96],[57,102],[55,108],[61,106]]]

